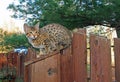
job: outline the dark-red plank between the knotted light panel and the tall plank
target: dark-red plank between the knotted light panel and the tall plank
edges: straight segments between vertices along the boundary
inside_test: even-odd
[[[71,48],[63,50],[60,55],[61,82],[73,82],[73,60]]]

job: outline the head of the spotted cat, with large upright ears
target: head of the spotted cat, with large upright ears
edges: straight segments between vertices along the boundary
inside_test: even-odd
[[[36,39],[39,35],[39,23],[37,23],[35,26],[29,26],[25,23],[24,32],[27,38]]]

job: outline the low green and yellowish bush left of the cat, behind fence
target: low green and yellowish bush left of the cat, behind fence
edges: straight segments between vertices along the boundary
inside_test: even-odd
[[[7,33],[7,32],[0,32],[2,36],[0,39],[0,52],[8,52],[14,48],[25,46],[29,47],[30,44],[24,34],[17,34],[17,33]]]

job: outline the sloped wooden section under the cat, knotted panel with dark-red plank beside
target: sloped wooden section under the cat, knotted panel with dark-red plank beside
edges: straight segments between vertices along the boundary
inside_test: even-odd
[[[25,82],[73,82],[71,48],[24,63]],[[26,58],[26,57],[25,57]]]

